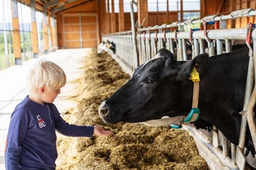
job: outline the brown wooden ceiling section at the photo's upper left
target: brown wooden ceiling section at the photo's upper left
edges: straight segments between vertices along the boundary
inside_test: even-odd
[[[46,8],[48,11],[54,14],[65,12],[68,9],[72,9],[76,6],[86,4],[89,1],[96,0],[17,0],[22,4],[30,6],[32,1],[35,1],[35,9],[43,11]]]

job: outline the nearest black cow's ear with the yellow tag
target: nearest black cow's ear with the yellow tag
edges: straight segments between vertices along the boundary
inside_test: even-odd
[[[203,72],[206,71],[206,68],[208,66],[208,55],[207,54],[201,54],[193,58],[193,60],[190,60],[188,62],[184,62],[180,66],[180,75],[182,77],[190,77],[190,72],[193,70],[193,67],[195,67],[196,71],[199,73],[199,75],[202,75]]]

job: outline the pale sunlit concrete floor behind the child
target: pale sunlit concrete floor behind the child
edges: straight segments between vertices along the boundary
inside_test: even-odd
[[[83,74],[83,63],[81,60],[87,55],[87,49],[59,49],[50,52],[49,55],[41,55],[37,59],[23,62],[22,65],[9,67],[0,71],[0,170],[4,170],[4,147],[8,131],[10,116],[16,105],[22,101],[28,91],[26,88],[27,72],[35,62],[46,58],[61,66],[66,72],[67,83],[61,88],[54,103],[60,113],[64,113],[69,108],[74,108],[76,103],[67,100],[66,97],[75,95],[75,83],[70,83],[78,79]]]

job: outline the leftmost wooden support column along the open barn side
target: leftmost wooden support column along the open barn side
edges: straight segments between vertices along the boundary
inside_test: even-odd
[[[17,0],[11,0],[11,6],[12,6],[12,40],[13,40],[15,65],[22,65]]]

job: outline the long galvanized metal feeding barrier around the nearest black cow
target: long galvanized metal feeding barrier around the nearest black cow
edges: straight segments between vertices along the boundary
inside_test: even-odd
[[[198,146],[200,155],[208,161],[210,169],[220,169],[220,164],[224,165],[223,169],[244,169],[244,143],[247,125],[250,128],[252,141],[256,150],[256,127],[254,123],[254,108],[256,103],[256,88],[255,75],[256,69],[256,30],[255,25],[249,23],[245,28],[226,29],[226,19],[237,19],[243,16],[255,16],[256,10],[242,9],[231,12],[224,16],[206,16],[203,19],[193,19],[185,22],[174,22],[172,24],[156,25],[154,27],[146,27],[137,29],[135,32],[133,4],[131,1],[131,22],[133,29],[128,32],[117,32],[114,34],[106,34],[102,37],[103,41],[110,41],[115,43],[116,53],[110,52],[116,62],[120,64],[122,69],[129,75],[132,75],[138,65],[149,61],[156,55],[159,49],[167,48],[172,54],[177,57],[177,60],[189,60],[199,54],[209,50],[209,56],[220,55],[223,52],[231,51],[231,42],[233,40],[244,40],[244,44],[250,48],[249,68],[247,74],[247,86],[244,96],[244,106],[241,111],[242,123],[240,128],[239,145],[234,146],[226,137],[213,127],[213,138],[209,141],[206,138],[201,138],[200,133],[193,128],[187,127],[191,134],[193,134],[195,143]],[[219,21],[219,29],[217,22]],[[191,24],[203,24],[203,29],[190,29],[185,32],[184,26]],[[208,24],[214,24],[215,29],[206,29]],[[174,32],[168,31],[169,28],[177,27]],[[252,42],[251,42],[252,41]],[[192,54],[187,55],[187,42],[191,44]],[[207,44],[206,44],[206,43]],[[250,46],[253,44],[253,47]],[[223,49],[225,44],[225,51]],[[219,140],[221,138],[221,140]],[[219,142],[220,141],[220,142]],[[203,146],[203,150],[200,148]],[[221,147],[220,147],[221,146]],[[211,156],[206,152],[209,151]],[[229,151],[231,154],[229,156]],[[218,160],[213,164],[212,156]],[[219,162],[219,163],[218,163]]]

